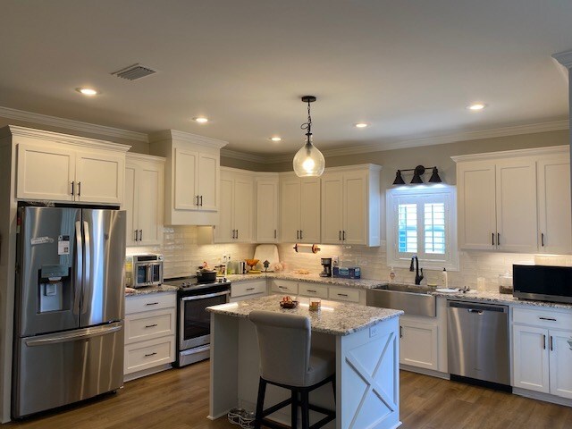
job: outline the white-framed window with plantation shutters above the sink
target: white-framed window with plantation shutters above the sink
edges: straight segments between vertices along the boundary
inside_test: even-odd
[[[387,191],[387,264],[458,271],[455,187],[417,186]]]

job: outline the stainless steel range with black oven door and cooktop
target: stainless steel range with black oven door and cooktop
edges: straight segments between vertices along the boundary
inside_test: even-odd
[[[186,366],[210,357],[211,318],[206,307],[229,302],[231,282],[200,283],[197,277],[168,279],[164,284],[177,286],[177,360]]]

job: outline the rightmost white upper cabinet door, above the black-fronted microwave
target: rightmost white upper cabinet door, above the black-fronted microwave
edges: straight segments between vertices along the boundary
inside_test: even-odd
[[[537,172],[540,250],[545,253],[572,253],[568,154],[540,160]]]

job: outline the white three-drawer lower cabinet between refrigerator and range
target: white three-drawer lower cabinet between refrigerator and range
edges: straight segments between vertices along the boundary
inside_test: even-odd
[[[153,374],[175,360],[176,292],[125,298],[125,380]]]

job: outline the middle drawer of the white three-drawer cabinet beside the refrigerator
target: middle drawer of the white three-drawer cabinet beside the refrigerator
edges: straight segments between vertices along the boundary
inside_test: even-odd
[[[175,309],[145,311],[125,316],[125,344],[174,335]]]

